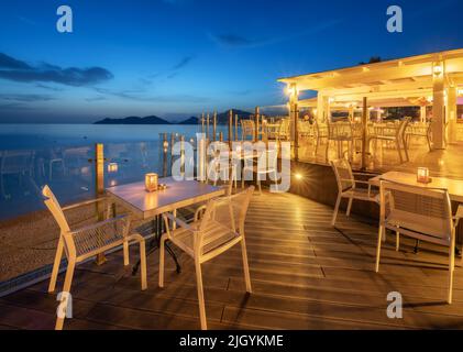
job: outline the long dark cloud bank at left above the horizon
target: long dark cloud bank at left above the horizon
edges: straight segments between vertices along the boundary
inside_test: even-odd
[[[66,86],[89,86],[107,81],[113,75],[102,67],[67,67],[42,63],[31,66],[25,62],[0,53],[0,78],[20,82],[56,82]]]

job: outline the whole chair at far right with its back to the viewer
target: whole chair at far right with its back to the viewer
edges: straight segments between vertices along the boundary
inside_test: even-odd
[[[396,232],[396,250],[399,237],[449,246],[449,293],[447,301],[452,302],[453,271],[455,267],[455,227],[463,218],[460,207],[455,217],[449,193],[442,188],[410,186],[387,180],[381,182],[381,219],[376,250],[376,273],[379,271],[382,238],[386,229]]]

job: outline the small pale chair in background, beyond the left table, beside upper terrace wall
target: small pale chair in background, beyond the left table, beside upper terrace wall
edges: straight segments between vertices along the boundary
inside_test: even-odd
[[[244,188],[244,175],[246,173],[256,174],[256,184],[258,187],[258,193],[262,194],[262,185],[261,185],[261,177],[263,175],[273,174],[275,185],[278,183],[277,178],[277,170],[278,170],[278,148],[268,148],[262,151],[257,158],[252,160],[252,164],[249,165],[247,162],[244,163],[244,167],[242,170],[241,177],[241,187]],[[266,179],[266,177],[264,178]]]

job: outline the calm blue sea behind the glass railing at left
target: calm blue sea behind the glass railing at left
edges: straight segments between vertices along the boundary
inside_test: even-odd
[[[93,197],[95,143],[104,144],[107,164],[117,164],[112,172],[106,165],[109,186],[163,173],[161,133],[189,141],[197,132],[198,125],[0,124],[0,220],[43,209],[43,185],[62,204]]]

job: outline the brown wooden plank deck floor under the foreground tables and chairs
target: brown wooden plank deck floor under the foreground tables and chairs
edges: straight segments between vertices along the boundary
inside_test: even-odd
[[[240,248],[203,265],[210,329],[461,329],[463,271],[455,270],[454,304],[444,302],[444,250],[411,242],[400,252],[390,235],[375,274],[376,227],[284,194],[254,196],[246,239],[254,293],[246,295]],[[407,245],[408,244],[408,245]],[[178,252],[179,253],[179,252]],[[132,262],[137,258],[133,251]],[[122,265],[121,253],[78,267],[74,318],[65,329],[198,329],[191,260],[176,274],[167,256],[166,287],[157,287],[157,252],[148,260],[148,289]],[[0,299],[0,329],[53,329],[57,301],[41,283]],[[58,286],[60,287],[60,286]],[[386,315],[390,292],[404,296],[404,318]]]

